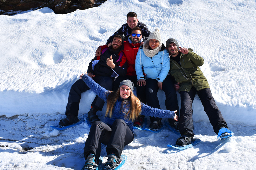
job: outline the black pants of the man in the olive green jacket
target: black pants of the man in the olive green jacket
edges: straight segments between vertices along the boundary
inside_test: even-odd
[[[194,101],[196,93],[203,104],[204,111],[210,120],[210,123],[213,127],[214,132],[218,134],[219,127],[220,126],[227,127],[227,123],[222,117],[222,114],[218,106],[216,105],[214,98],[212,97],[212,92],[209,88],[197,91],[194,86],[192,87],[190,92],[187,92],[187,91],[180,92],[180,98],[181,98],[180,120],[179,120],[180,134],[187,132],[192,136],[194,136],[192,103]]]

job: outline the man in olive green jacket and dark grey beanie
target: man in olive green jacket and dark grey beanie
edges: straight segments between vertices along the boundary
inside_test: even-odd
[[[192,103],[196,93],[200,98],[213,130],[218,134],[220,128],[228,128],[217,107],[207,79],[199,66],[204,59],[192,52],[191,48],[181,48],[175,39],[166,41],[166,48],[170,54],[170,74],[176,79],[175,89],[179,90],[181,98],[179,130],[181,137],[177,145],[188,145],[193,141]],[[180,48],[180,49],[179,49]]]

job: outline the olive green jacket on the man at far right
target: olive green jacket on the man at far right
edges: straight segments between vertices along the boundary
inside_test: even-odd
[[[180,64],[170,58],[170,74],[180,82],[181,91],[189,92],[194,86],[197,91],[210,88],[207,79],[199,66],[204,64],[203,57],[192,52],[193,49],[188,48],[188,54],[180,55]]]

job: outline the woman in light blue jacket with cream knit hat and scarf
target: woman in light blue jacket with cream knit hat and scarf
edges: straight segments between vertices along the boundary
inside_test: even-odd
[[[170,58],[167,49],[161,42],[159,29],[151,32],[148,40],[139,48],[136,56],[135,70],[138,85],[146,86],[146,102],[148,106],[160,109],[157,92],[159,88],[165,92],[165,106],[171,102],[169,92],[169,81],[164,81],[170,70]],[[168,110],[168,109],[167,109]],[[143,116],[141,116],[144,118]],[[150,128],[159,129],[162,118],[150,117]]]

